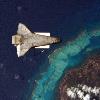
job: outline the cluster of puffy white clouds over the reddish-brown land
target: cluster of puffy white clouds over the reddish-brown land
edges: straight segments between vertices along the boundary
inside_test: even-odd
[[[84,95],[84,92],[87,94]],[[71,98],[76,98],[77,96],[81,100],[90,100],[91,93],[95,96],[100,94],[100,88],[96,86],[92,88],[87,85],[78,84],[77,87],[67,88],[66,93]]]

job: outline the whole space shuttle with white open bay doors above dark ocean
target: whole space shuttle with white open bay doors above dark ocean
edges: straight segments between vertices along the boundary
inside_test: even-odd
[[[24,24],[19,23],[17,34],[12,36],[12,44],[17,48],[21,57],[32,47],[49,48],[50,44],[58,43],[58,37],[50,36],[49,32],[31,32]]]

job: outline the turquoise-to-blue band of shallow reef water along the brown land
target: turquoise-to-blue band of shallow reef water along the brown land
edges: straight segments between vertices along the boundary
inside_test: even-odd
[[[98,40],[98,41],[97,41]],[[38,80],[31,100],[53,100],[54,89],[65,69],[78,65],[83,55],[100,48],[100,31],[84,31],[75,40],[56,49],[49,56],[47,72]],[[98,43],[97,43],[98,42]]]

